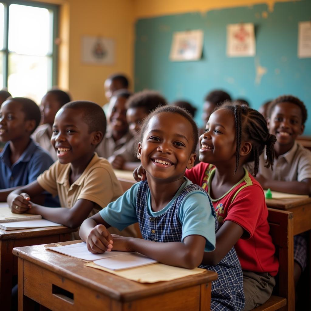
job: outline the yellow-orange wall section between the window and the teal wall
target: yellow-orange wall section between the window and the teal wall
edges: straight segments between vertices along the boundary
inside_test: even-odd
[[[133,77],[133,5],[131,0],[38,0],[60,6],[58,85],[72,98],[103,105],[104,80],[112,73]],[[81,62],[81,37],[104,36],[115,41],[113,65]],[[131,83],[133,86],[133,83]]]

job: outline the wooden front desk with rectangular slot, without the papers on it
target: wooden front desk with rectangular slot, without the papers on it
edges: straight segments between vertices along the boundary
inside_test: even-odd
[[[68,244],[68,243],[61,243]],[[204,273],[168,282],[142,284],[85,267],[84,262],[44,245],[13,249],[18,256],[18,309],[34,301],[52,310],[209,310],[211,281]]]

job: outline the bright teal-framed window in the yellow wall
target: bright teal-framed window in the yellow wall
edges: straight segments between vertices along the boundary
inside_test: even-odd
[[[57,84],[58,6],[0,0],[0,89],[40,103]]]

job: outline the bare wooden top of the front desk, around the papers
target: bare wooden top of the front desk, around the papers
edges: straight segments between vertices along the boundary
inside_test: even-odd
[[[63,242],[60,244],[65,245],[68,243]],[[44,245],[14,248],[13,254],[23,260],[35,263],[39,267],[57,273],[59,276],[123,302],[208,283],[217,278],[217,273],[206,271],[195,276],[173,281],[142,284],[108,272],[85,267],[85,262],[48,250]]]

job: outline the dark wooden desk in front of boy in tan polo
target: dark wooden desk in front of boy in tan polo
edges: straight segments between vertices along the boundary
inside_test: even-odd
[[[12,277],[17,275],[17,258],[14,247],[70,240],[70,233],[77,229],[63,226],[20,230],[0,229],[0,309],[10,310]]]

